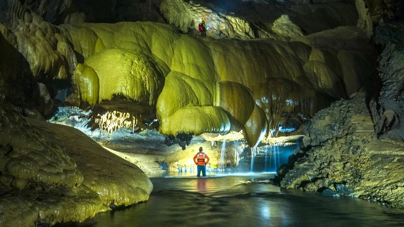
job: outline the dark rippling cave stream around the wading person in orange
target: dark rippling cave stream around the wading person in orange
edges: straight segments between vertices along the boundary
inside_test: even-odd
[[[404,226],[404,212],[351,197],[283,190],[273,174],[151,177],[147,202],[95,215],[90,226]]]

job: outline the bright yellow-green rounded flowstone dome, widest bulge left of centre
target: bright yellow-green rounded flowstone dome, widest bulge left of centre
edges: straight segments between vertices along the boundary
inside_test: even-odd
[[[156,63],[140,51],[108,49],[90,56],[84,64],[98,75],[100,101],[123,95],[154,105],[164,84],[164,76]]]

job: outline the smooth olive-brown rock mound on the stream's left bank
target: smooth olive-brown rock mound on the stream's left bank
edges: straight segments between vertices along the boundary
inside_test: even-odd
[[[76,129],[20,111],[0,101],[0,225],[84,221],[148,199],[153,185],[137,166]]]

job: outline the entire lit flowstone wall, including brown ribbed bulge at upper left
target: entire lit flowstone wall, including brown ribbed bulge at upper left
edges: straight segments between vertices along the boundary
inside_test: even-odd
[[[302,122],[357,91],[370,71],[366,53],[357,51],[364,35],[355,28],[302,37],[280,17],[274,29],[294,36],[291,42],[200,40],[164,24],[54,26],[31,14],[32,23],[15,19],[10,30],[2,29],[9,48],[27,59],[27,76],[71,80],[90,106],[114,96],[156,106],[166,135],[243,130],[255,146],[287,119]],[[230,27],[223,29],[249,34],[247,27]]]

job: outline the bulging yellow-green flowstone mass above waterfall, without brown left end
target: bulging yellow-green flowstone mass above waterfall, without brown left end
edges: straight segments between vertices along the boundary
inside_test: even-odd
[[[99,86],[101,103],[114,95],[145,105],[156,103],[160,131],[165,135],[243,130],[247,143],[255,146],[269,130],[277,130],[280,122],[286,125],[285,119],[300,116],[299,122],[304,121],[331,100],[345,97],[347,90],[358,90],[362,75],[371,70],[371,59],[360,52],[349,55],[362,63],[356,74],[344,70],[349,66],[341,64],[351,64],[344,52],[351,50],[342,46],[328,51],[300,42],[202,41],[155,23],[62,25],[60,29],[74,49],[87,56],[83,67],[75,71],[75,81],[92,77],[87,67],[99,74],[98,83],[81,79],[85,83],[78,84],[80,92],[92,94],[87,90]],[[366,39],[360,30],[353,30],[358,40]],[[92,41],[83,49],[82,40],[89,35]],[[345,41],[336,38],[335,42]],[[136,57],[123,49],[137,52]],[[108,55],[117,55],[118,60],[112,64]],[[116,74],[116,69],[121,76],[102,82]],[[82,101],[96,100],[81,97]],[[238,104],[240,100],[244,106]]]

